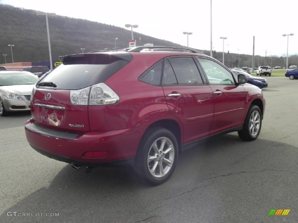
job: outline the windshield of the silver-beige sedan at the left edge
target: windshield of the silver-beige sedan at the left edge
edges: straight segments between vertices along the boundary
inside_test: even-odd
[[[30,73],[0,74],[0,86],[36,84],[39,78]]]

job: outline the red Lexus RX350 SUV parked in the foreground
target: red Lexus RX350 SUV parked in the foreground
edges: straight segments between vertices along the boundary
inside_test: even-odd
[[[62,61],[33,89],[25,132],[37,152],[75,169],[132,161],[142,181],[158,185],[185,145],[260,134],[262,90],[194,49],[144,46]]]

